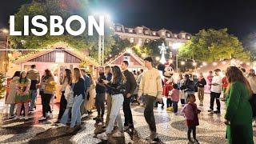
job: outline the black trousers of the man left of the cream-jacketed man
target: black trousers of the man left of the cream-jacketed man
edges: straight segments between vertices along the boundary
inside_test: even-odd
[[[122,106],[123,114],[125,116],[125,124],[124,126],[131,126],[133,127],[133,115],[131,114],[130,110],[130,98],[124,97],[123,106]]]

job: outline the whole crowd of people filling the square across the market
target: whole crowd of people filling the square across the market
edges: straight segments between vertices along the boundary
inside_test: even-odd
[[[99,69],[98,78],[86,73],[84,69],[66,69],[63,78],[60,78],[61,99],[58,111],[58,119],[55,122],[59,126],[70,123],[68,131],[80,130],[83,114],[92,114],[96,108],[96,122],[102,122],[102,128],[106,131],[98,134],[97,138],[107,140],[113,133],[114,125],[118,125],[118,131],[113,137],[120,137],[126,130],[134,129],[134,121],[130,103],[144,106],[144,117],[150,127],[150,136],[147,140],[159,141],[156,123],[154,119],[154,106],[163,105],[162,97],[166,97],[166,110],[173,109],[174,114],[184,114],[188,127],[187,138],[190,143],[198,143],[196,138],[196,126],[199,125],[199,110],[196,104],[195,93],[198,92],[199,106],[204,105],[205,91],[210,91],[211,114],[221,113],[221,100],[226,102],[226,138],[229,143],[254,143],[252,122],[255,118],[256,74],[230,66],[225,76],[222,71],[216,69],[210,71],[207,76],[198,74],[195,80],[190,74],[178,74],[178,78],[162,78],[158,69],[153,66],[153,58],[144,59],[146,70],[138,72],[128,70],[129,62],[123,61],[121,66],[106,66]],[[206,78],[205,78],[206,77]],[[55,80],[54,80],[55,79]],[[42,78],[36,66],[31,70],[16,71],[10,81],[10,91],[6,98],[6,104],[10,104],[9,118],[19,119],[24,115],[28,120],[29,111],[36,108],[37,95],[42,100],[42,118],[39,121],[47,121],[53,118],[53,99],[56,94],[56,78],[50,70],[45,70]],[[168,86],[168,87],[167,87]],[[166,92],[167,90],[167,92]],[[222,95],[222,98],[221,98]],[[217,109],[214,110],[214,101]],[[178,105],[181,102],[181,105]],[[178,106],[182,110],[178,112]],[[16,107],[16,112],[14,112]],[[106,120],[105,116],[106,107]],[[123,110],[122,122],[120,110]],[[256,123],[254,122],[254,126]],[[193,133],[193,139],[190,133]]]

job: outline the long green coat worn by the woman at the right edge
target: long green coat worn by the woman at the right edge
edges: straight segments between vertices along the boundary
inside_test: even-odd
[[[253,144],[252,109],[250,93],[242,82],[234,82],[226,98],[225,118],[230,121],[226,127],[229,143]]]

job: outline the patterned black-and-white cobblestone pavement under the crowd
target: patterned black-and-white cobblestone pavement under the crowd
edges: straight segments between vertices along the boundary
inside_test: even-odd
[[[198,141],[204,143],[226,143],[226,126],[223,123],[224,104],[222,114],[207,113],[209,95],[206,95],[205,106],[198,106],[202,113],[199,114],[200,126],[197,127]],[[181,106],[179,106],[181,108]],[[58,109],[57,106],[55,109]],[[101,131],[100,127],[95,130],[94,120],[96,112],[90,118],[82,118],[82,130],[73,133],[66,132],[66,127],[54,125],[58,110],[54,110],[54,119],[48,122],[38,122],[41,117],[41,107],[31,114],[29,121],[7,120],[6,114],[0,118],[0,143],[146,143],[144,138],[149,136],[150,130],[143,117],[142,106],[132,106],[135,130],[125,133],[122,138],[110,138],[109,142],[102,142],[94,138],[94,132]],[[122,111],[122,110],[121,110]],[[158,143],[187,143],[185,118],[182,114],[174,115],[162,110],[159,106],[154,110],[157,123],[158,136],[162,142]],[[123,114],[122,114],[123,118]],[[123,119],[122,119],[123,120]],[[256,129],[254,128],[254,142],[256,142]]]

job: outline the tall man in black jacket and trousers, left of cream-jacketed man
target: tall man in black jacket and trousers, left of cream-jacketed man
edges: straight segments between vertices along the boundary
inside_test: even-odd
[[[129,63],[127,61],[123,61],[121,64],[121,69],[123,74],[126,77],[126,92],[124,94],[124,102],[123,102],[123,113],[125,115],[125,124],[124,130],[129,128],[134,128],[133,116],[130,110],[130,98],[131,95],[134,94],[134,90],[137,86],[137,82],[134,78],[134,74],[132,74],[129,70],[127,70]]]

